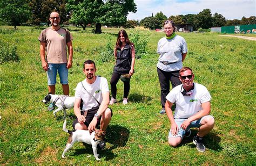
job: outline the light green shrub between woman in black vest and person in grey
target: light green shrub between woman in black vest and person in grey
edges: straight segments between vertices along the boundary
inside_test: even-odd
[[[142,32],[139,30],[132,30],[130,40],[134,43],[136,51],[136,59],[140,59],[143,54],[147,53],[146,46],[150,40],[149,32]]]

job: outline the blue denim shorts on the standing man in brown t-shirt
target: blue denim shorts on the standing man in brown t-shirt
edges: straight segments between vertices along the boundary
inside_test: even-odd
[[[61,84],[68,84],[69,69],[66,68],[66,63],[49,63],[49,69],[47,70],[48,85],[56,84],[57,71]]]

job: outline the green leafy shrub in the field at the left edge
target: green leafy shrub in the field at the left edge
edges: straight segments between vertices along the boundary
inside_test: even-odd
[[[17,46],[1,46],[0,49],[0,64],[8,61],[19,61]]]

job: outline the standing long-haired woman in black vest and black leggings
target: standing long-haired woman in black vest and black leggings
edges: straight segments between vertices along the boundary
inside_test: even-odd
[[[118,32],[116,46],[114,47],[114,58],[116,65],[113,69],[113,75],[110,81],[111,85],[111,100],[110,105],[117,102],[117,82],[119,78],[124,82],[123,104],[127,104],[127,97],[130,91],[130,78],[134,73],[135,64],[135,48],[130,42],[125,30]]]

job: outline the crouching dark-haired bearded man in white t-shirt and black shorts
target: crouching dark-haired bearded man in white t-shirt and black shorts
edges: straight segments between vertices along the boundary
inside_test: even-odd
[[[73,128],[95,131],[98,125],[106,131],[112,117],[109,105],[109,85],[104,77],[96,76],[95,62],[87,60],[83,64],[83,73],[86,78],[76,87],[74,112],[77,117],[73,121]],[[83,100],[83,109],[80,103]],[[105,148],[105,142],[99,143],[99,148]]]

